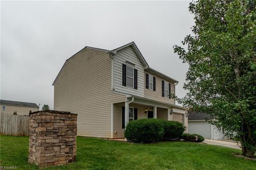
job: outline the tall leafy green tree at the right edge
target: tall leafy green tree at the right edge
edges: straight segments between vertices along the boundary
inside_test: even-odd
[[[183,106],[215,117],[211,123],[241,142],[242,155],[256,150],[256,2],[195,1],[193,35],[174,46],[188,63]]]

